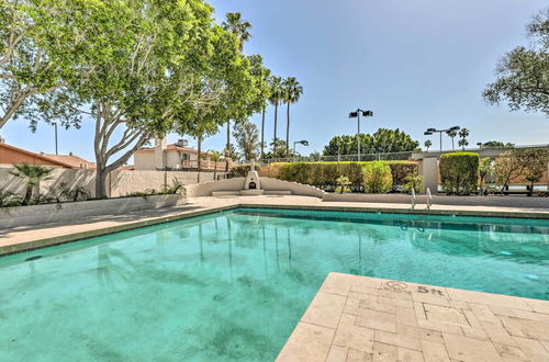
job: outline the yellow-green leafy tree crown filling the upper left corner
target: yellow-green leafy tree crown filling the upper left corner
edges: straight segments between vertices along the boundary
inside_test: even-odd
[[[93,56],[88,45],[101,36],[92,31],[98,7],[83,0],[0,1],[0,128],[19,116],[32,129],[38,120],[58,116],[64,126],[78,126],[70,109],[44,112],[43,104],[63,101],[67,83],[86,77],[78,60]]]

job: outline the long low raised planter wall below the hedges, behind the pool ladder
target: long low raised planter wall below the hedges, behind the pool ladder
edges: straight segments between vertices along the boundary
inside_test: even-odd
[[[325,193],[323,201],[332,202],[367,202],[367,203],[394,203],[411,204],[412,196],[408,194],[371,194],[371,193]],[[417,203],[425,204],[427,196],[417,195]],[[446,196],[434,195],[435,205],[462,205],[462,206],[494,206],[494,207],[527,207],[549,210],[549,197],[527,196]]]

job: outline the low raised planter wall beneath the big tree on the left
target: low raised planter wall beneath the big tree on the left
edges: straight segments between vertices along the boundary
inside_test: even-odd
[[[100,215],[124,215],[134,211],[182,205],[181,194],[120,197],[0,208],[0,228],[45,223],[80,222]]]

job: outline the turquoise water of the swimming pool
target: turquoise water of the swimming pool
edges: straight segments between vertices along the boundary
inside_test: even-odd
[[[549,222],[236,210],[0,258],[0,361],[273,360],[330,271],[549,299]]]

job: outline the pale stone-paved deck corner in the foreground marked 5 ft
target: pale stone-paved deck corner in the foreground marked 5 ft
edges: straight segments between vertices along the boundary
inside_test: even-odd
[[[277,361],[549,361],[549,302],[330,273]]]

